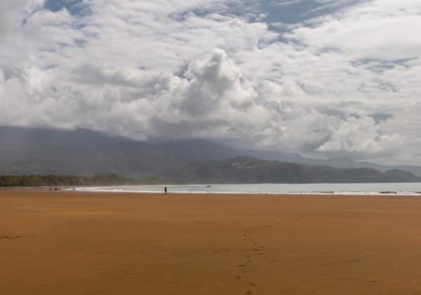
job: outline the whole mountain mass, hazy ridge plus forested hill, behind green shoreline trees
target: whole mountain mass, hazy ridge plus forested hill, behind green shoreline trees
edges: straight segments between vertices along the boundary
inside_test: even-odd
[[[381,166],[346,157],[308,159],[279,151],[239,150],[208,140],[140,142],[87,129],[0,127],[0,174],[48,173],[233,183],[421,181],[417,166]]]

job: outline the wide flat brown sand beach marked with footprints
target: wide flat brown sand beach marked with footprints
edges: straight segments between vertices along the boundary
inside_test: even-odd
[[[421,197],[0,190],[0,294],[421,294]]]

